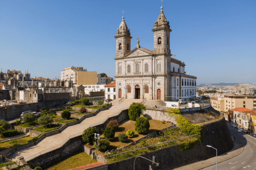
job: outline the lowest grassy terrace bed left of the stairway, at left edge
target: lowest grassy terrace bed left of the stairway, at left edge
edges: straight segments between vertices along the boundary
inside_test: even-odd
[[[28,140],[32,139],[31,136],[22,136],[18,138],[14,138],[8,141],[2,141],[0,142],[0,151],[3,151],[5,149],[13,148],[19,145],[23,145],[27,143]]]

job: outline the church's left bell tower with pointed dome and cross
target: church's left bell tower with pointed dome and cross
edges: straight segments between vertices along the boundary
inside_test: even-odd
[[[124,11],[123,11],[124,12]],[[125,23],[125,17],[122,17],[122,22],[116,31],[116,58],[123,57],[131,51],[131,33]]]

